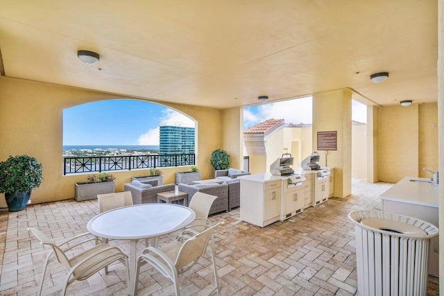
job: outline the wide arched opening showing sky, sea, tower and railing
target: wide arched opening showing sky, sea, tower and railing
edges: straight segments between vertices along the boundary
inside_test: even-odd
[[[146,101],[69,107],[63,110],[63,174],[194,165],[195,130],[188,116]]]

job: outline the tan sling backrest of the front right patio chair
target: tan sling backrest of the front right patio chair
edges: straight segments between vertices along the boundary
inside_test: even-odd
[[[177,270],[185,268],[185,266],[193,261],[196,261],[205,253],[207,250],[208,241],[210,241],[214,230],[221,224],[223,224],[223,222],[217,223],[203,232],[196,234],[196,236],[188,238],[187,241],[182,244],[182,247],[180,247],[178,252],[178,256],[176,257],[176,262],[174,263]]]

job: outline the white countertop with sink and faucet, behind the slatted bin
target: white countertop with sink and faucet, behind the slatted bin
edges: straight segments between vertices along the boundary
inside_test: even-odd
[[[430,179],[404,177],[400,182],[379,195],[379,198],[381,198],[381,200],[406,202],[437,208],[439,203],[439,186],[425,182],[411,182],[410,180],[429,181]]]

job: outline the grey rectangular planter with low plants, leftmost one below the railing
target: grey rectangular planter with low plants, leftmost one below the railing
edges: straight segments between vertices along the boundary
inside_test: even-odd
[[[88,175],[87,182],[76,183],[76,200],[94,200],[98,194],[113,193],[115,177],[108,173]]]

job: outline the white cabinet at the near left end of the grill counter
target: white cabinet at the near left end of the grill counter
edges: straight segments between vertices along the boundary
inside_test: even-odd
[[[280,219],[281,180],[267,174],[241,179],[241,220],[264,227]]]

